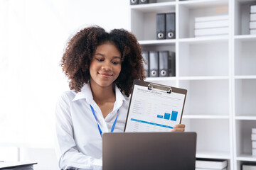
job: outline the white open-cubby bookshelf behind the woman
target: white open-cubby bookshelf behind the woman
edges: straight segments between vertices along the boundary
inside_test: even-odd
[[[131,30],[143,50],[176,52],[176,77],[147,78],[188,89],[182,123],[198,134],[196,157],[228,159],[240,170],[252,157],[256,128],[256,35],[249,35],[255,0],[156,0],[131,5]],[[176,39],[156,40],[156,13],[176,12]],[[194,19],[229,16],[229,35],[194,37]]]

